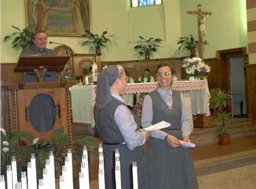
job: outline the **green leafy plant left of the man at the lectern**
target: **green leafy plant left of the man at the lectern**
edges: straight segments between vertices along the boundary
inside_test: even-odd
[[[19,27],[15,27],[12,25],[12,28],[14,28],[16,31],[10,34],[10,36],[5,36],[3,39],[4,42],[13,39],[12,47],[14,49],[25,49],[32,44],[32,34],[28,27],[25,27],[24,29],[19,29]]]

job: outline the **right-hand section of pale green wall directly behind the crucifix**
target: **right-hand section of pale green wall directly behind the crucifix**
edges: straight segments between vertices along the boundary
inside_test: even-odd
[[[198,19],[187,14],[187,10],[211,12],[206,18],[206,40],[204,58],[215,58],[218,50],[247,47],[246,0],[181,0],[180,14],[182,36],[193,34],[198,37]]]

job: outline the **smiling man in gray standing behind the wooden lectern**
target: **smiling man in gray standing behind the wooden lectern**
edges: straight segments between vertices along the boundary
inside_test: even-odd
[[[56,55],[55,51],[46,48],[47,45],[47,34],[43,30],[36,30],[32,34],[32,45],[27,49],[24,49],[21,56],[31,55]],[[23,77],[23,83],[37,82],[36,74],[33,72],[26,73]],[[51,82],[57,81],[54,71],[46,71],[43,77],[43,81]]]

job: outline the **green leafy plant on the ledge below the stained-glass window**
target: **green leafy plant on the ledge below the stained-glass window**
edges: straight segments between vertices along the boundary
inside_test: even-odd
[[[139,36],[139,38],[138,45],[134,47],[134,50],[138,51],[140,56],[145,55],[145,59],[149,59],[150,55],[153,55],[153,53],[158,50],[162,42],[160,38],[145,39],[142,36]]]

